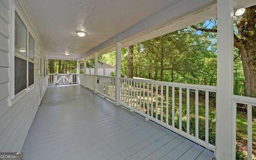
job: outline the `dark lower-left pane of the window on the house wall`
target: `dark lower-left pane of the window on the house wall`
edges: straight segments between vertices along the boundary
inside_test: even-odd
[[[15,94],[27,88],[27,61],[15,57]]]

